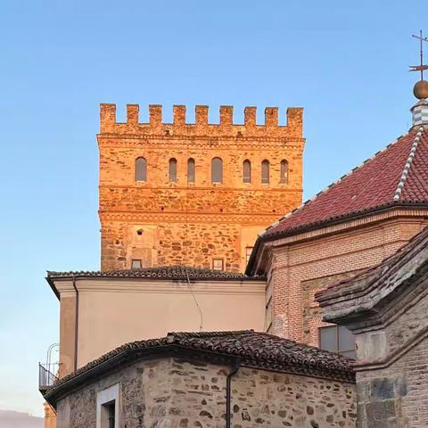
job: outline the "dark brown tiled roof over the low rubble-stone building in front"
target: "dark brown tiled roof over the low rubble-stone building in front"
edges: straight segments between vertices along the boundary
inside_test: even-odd
[[[169,333],[161,339],[130,342],[95,359],[77,372],[69,374],[53,385],[45,399],[54,402],[67,388],[83,384],[89,377],[99,378],[107,367],[116,367],[131,359],[138,359],[155,351],[173,355],[192,351],[201,358],[235,360],[240,366],[258,367],[266,370],[293,374],[314,375],[329,379],[355,382],[353,360],[326,350],[292,342],[268,333],[252,330],[210,333]]]

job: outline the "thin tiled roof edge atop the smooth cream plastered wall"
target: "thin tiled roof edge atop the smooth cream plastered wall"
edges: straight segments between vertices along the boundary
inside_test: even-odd
[[[70,271],[54,272],[48,271],[47,278],[70,278],[78,277],[105,277],[105,278],[152,278],[152,279],[187,279],[191,280],[254,280],[260,279],[258,276],[245,276],[236,272],[226,272],[222,270],[212,270],[204,268],[190,268],[185,266],[165,266],[159,268],[141,268],[111,271]]]

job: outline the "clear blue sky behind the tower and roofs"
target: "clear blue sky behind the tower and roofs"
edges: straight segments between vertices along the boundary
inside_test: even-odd
[[[303,106],[304,199],[411,123],[428,4],[402,0],[0,1],[0,408],[43,415],[58,342],[45,271],[99,268],[99,103]],[[285,214],[285,213],[284,213]]]

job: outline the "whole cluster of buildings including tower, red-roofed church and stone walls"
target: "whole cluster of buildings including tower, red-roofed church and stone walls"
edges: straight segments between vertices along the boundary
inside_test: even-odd
[[[300,206],[301,109],[278,127],[275,109],[260,126],[247,108],[239,126],[229,107],[219,125],[197,107],[189,125],[183,107],[162,124],[152,106],[140,124],[135,105],[117,123],[102,104],[102,270],[46,278],[61,305],[62,379],[41,390],[61,409],[58,428],[119,427],[103,424],[105,412],[139,421],[129,427],[427,426],[428,83],[414,93],[406,134]],[[167,389],[149,406],[153,365]],[[124,396],[126,408],[124,385],[139,397]],[[251,390],[248,408],[238,399],[231,410],[248,385],[262,395]],[[221,399],[203,392],[218,388]],[[330,414],[334,391],[346,400]]]

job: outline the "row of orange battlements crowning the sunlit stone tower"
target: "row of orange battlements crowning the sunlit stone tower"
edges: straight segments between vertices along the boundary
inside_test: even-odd
[[[286,125],[278,125],[278,108],[265,109],[265,123],[257,124],[256,107],[245,107],[244,123],[234,123],[234,107],[220,106],[219,123],[209,123],[209,107],[195,106],[195,123],[186,123],[185,105],[173,106],[173,123],[162,122],[162,106],[149,105],[149,123],[139,122],[139,105],[127,105],[127,121],[116,121],[116,104],[100,104],[100,134],[146,136],[272,136],[302,138],[303,108],[287,109]]]

